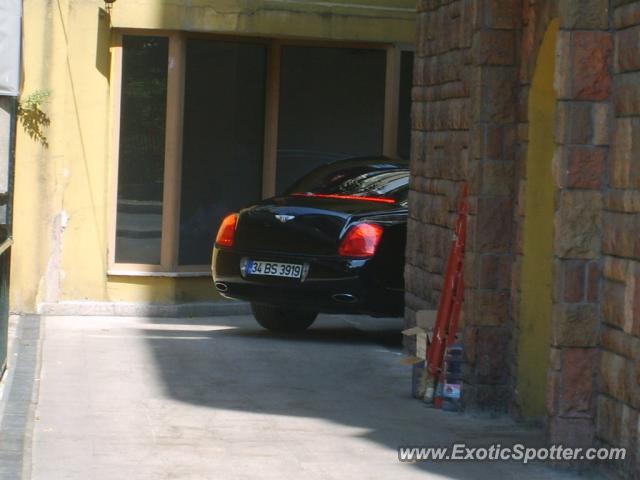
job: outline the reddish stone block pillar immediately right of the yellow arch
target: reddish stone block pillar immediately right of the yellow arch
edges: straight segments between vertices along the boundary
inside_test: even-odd
[[[562,0],[559,15],[553,163],[558,191],[547,410],[553,443],[592,445],[613,44],[608,1]]]

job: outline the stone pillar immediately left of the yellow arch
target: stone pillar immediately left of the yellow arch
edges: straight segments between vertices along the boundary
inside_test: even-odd
[[[464,401],[506,411],[512,396],[510,309],[520,2],[477,0],[471,47],[472,198],[467,242]]]

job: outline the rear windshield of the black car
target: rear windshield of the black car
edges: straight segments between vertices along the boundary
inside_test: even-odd
[[[409,169],[393,164],[319,168],[303,177],[286,194],[353,195],[406,200]]]

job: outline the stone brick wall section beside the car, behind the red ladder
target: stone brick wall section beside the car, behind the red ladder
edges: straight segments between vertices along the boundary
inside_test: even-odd
[[[472,3],[418,2],[405,267],[407,327],[437,305],[457,195],[468,177]],[[413,354],[415,342],[406,343]],[[414,381],[423,365],[414,368]]]

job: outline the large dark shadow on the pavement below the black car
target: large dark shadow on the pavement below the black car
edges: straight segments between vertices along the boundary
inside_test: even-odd
[[[411,398],[408,367],[400,364],[401,320],[321,316],[295,335],[267,332],[247,316],[184,319],[179,331],[171,325],[179,320],[152,321],[154,332],[146,341],[158,375],[167,394],[182,402],[323,419],[356,427],[361,438],[392,451],[453,442],[544,445],[540,430],[509,419],[471,419]],[[502,478],[501,467],[492,465],[492,478]],[[468,462],[415,466],[478,478]],[[513,471],[502,473],[510,478]]]

